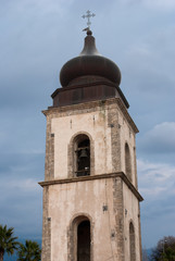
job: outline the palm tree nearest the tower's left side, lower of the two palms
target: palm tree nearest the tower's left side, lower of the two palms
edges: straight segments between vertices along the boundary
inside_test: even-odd
[[[20,244],[17,261],[40,261],[41,250],[36,241],[26,240]]]

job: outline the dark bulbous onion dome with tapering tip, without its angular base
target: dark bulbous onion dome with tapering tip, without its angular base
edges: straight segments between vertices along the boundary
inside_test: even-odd
[[[85,46],[80,54],[66,62],[60,72],[60,82],[63,87],[79,76],[98,75],[108,78],[117,86],[121,83],[121,72],[110,59],[102,57],[96,49],[95,37],[87,32]]]

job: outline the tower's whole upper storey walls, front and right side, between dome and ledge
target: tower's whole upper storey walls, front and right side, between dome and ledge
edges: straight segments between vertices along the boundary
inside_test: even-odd
[[[76,134],[82,133],[91,137],[91,174],[125,172],[124,148],[127,141],[130,149],[133,181],[136,185],[133,148],[137,127],[117,98],[51,109],[46,114],[48,119],[46,181],[53,176],[54,178],[71,176],[74,153],[71,142]]]

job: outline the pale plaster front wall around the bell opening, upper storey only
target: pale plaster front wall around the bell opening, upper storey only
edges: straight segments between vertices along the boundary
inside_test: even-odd
[[[73,137],[79,134],[88,135],[91,140],[91,174],[111,172],[111,127],[108,126],[103,105],[92,112],[83,109],[79,114],[54,117],[51,132],[54,133],[54,178],[71,176],[70,170],[74,175],[71,167],[74,153],[72,142]]]

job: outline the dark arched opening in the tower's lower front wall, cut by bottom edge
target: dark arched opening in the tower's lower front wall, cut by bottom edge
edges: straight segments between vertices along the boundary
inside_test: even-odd
[[[90,222],[83,221],[77,226],[77,261],[90,261]]]

